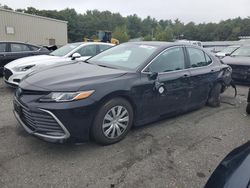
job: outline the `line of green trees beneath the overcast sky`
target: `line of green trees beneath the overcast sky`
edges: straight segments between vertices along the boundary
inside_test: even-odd
[[[0,7],[12,10],[6,5]],[[179,19],[156,20],[150,16],[141,19],[136,14],[124,17],[119,13],[98,10],[88,10],[79,14],[69,8],[57,11],[28,7],[15,11],[68,21],[69,42],[82,41],[84,37],[95,37],[98,30],[112,31],[112,36],[120,42],[139,37],[158,41],[176,39],[223,41],[238,40],[239,36],[250,35],[250,17],[238,17],[219,23],[184,24]]]

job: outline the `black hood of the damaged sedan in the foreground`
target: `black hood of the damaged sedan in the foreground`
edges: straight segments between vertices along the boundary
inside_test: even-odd
[[[78,91],[86,85],[105,82],[127,73],[125,70],[78,62],[51,67],[29,75],[20,87],[26,90]]]

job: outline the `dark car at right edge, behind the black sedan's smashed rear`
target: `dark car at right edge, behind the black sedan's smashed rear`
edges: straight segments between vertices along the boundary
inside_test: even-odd
[[[242,46],[222,61],[233,69],[232,78],[235,81],[250,82],[250,46]]]

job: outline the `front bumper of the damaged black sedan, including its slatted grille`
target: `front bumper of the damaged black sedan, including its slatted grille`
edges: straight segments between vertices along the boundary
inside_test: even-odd
[[[82,101],[81,101],[82,102]],[[49,142],[89,140],[94,108],[74,103],[30,103],[14,99],[14,115],[29,133]]]

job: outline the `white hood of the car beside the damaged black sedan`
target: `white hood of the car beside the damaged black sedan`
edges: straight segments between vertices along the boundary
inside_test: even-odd
[[[65,60],[65,57],[51,56],[51,55],[36,55],[20,58],[14,61],[11,61],[5,68],[13,69],[15,67],[26,66],[26,65],[48,65],[51,63],[56,63],[58,61]]]

